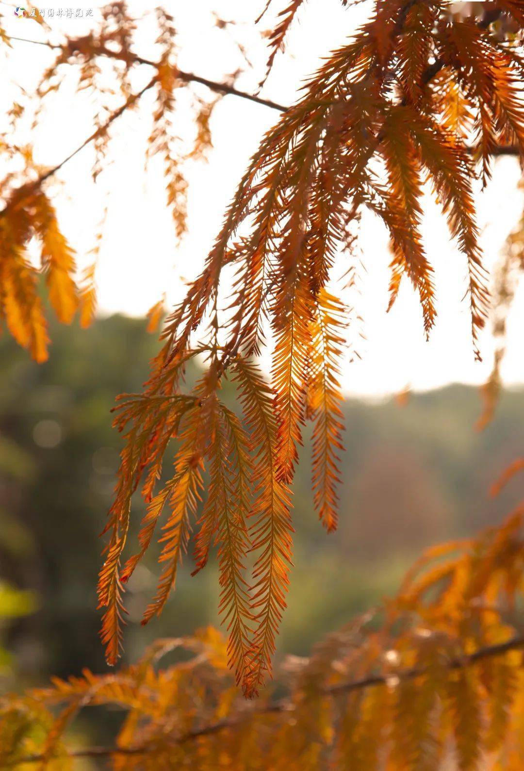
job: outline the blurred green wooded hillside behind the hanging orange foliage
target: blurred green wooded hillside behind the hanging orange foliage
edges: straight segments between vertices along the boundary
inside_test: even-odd
[[[0,580],[32,598],[3,628],[0,619],[0,648],[15,652],[16,687],[83,666],[105,669],[97,534],[120,446],[109,410],[119,392],[141,389],[158,347],[143,321],[119,316],[86,332],[57,327],[52,339],[45,365],[7,337],[0,341]],[[327,535],[313,512],[307,448],[297,475],[295,567],[281,652],[305,653],[395,591],[423,547],[498,522],[511,508],[511,490],[492,501],[488,489],[522,454],[524,392],[506,392],[481,434],[474,429],[478,392],[463,386],[411,396],[403,408],[395,400],[348,400],[344,411],[337,534]],[[140,507],[137,501],[135,530]],[[153,638],[217,622],[216,568],[210,564],[193,579],[190,570],[186,560],[163,618],[142,628],[158,574],[155,555],[137,569],[127,595],[126,658]]]

